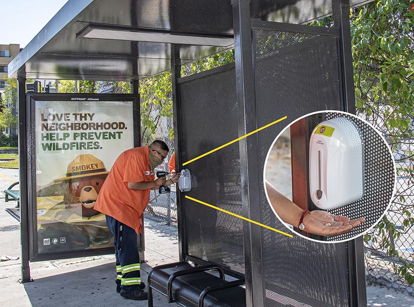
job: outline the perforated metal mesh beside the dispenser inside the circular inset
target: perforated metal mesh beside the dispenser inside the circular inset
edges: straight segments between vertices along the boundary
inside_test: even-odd
[[[394,164],[388,147],[380,135],[360,119],[341,113],[328,113],[326,119],[345,116],[356,123],[364,141],[364,196],[346,206],[329,210],[349,218],[365,217],[366,222],[340,236],[327,237],[328,241],[352,238],[370,228],[385,212],[394,189]]]

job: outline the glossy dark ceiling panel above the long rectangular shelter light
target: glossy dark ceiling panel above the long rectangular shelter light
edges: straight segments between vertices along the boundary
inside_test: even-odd
[[[230,0],[100,0],[76,19],[172,31],[231,33]]]

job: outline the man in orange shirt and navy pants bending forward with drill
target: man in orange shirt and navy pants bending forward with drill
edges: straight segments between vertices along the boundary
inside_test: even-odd
[[[106,225],[114,236],[116,291],[127,299],[146,300],[145,284],[140,278],[137,234],[141,217],[149,202],[150,190],[178,182],[180,173],[171,179],[155,180],[154,169],[168,154],[168,146],[155,140],[149,146],[127,150],[116,159],[98,195],[95,210],[106,215]]]

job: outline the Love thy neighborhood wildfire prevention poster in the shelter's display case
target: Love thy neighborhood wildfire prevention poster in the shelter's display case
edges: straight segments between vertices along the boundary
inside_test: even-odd
[[[133,102],[36,101],[35,147],[38,253],[112,246],[94,205],[116,158],[134,147]]]

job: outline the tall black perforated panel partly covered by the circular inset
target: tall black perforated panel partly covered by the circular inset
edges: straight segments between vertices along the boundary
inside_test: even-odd
[[[287,115],[257,134],[260,173],[277,134],[289,122],[314,111],[339,110],[337,38],[325,35],[253,30],[257,126]],[[261,186],[263,187],[262,178]],[[277,229],[276,218],[260,191],[262,222]],[[293,239],[263,229],[266,306],[349,306],[347,244]]]

